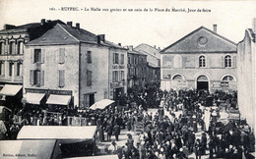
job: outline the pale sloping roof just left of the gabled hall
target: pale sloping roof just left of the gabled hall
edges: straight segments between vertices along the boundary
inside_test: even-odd
[[[134,48],[137,51],[144,52],[145,54],[150,54],[152,56],[155,56],[157,58],[160,58],[160,49],[155,48],[149,44],[142,43]]]

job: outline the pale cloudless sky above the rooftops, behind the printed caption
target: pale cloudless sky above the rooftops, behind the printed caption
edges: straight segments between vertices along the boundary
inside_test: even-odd
[[[79,11],[61,11],[62,7],[75,7]],[[92,11],[92,7],[96,10]],[[52,8],[55,11],[50,11]],[[171,12],[173,8],[201,12]],[[170,12],[165,12],[166,9]],[[39,23],[41,19],[71,21],[96,34],[105,34],[114,43],[134,46],[147,43],[163,49],[202,26],[213,29],[217,25],[218,33],[235,43],[241,41],[245,29],[252,27],[256,17],[256,1],[0,0],[0,15],[0,29],[4,24],[19,26]]]

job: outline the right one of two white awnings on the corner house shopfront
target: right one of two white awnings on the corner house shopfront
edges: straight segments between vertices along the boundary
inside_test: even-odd
[[[70,95],[50,94],[49,98],[46,101],[46,104],[68,105],[70,100]]]

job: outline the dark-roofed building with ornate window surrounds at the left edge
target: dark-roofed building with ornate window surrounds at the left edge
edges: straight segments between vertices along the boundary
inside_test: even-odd
[[[24,48],[61,21],[45,21],[23,26],[5,25],[0,30],[0,91],[1,104],[15,107],[21,104],[23,86]],[[13,107],[11,106],[11,107]]]

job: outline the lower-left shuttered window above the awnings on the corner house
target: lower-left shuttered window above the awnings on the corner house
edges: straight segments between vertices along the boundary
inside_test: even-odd
[[[43,86],[44,85],[44,71],[31,70],[30,82],[31,82],[31,85]]]

